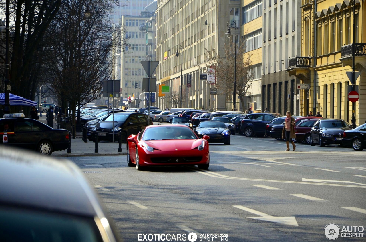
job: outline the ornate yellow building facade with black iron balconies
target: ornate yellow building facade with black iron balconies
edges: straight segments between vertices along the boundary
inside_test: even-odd
[[[287,71],[310,84],[300,92],[300,115],[320,111],[326,118],[351,122],[352,103],[348,101],[346,72],[352,71],[353,20],[355,18],[355,69],[359,101],[355,105],[356,125],[366,120],[366,18],[365,4],[355,1],[303,0],[301,56],[289,60]],[[315,56],[315,58],[314,58]],[[315,113],[313,113],[315,114]]]

